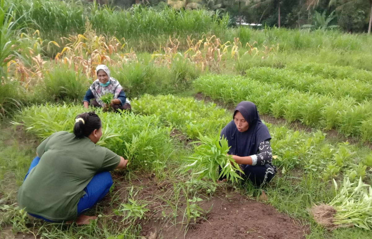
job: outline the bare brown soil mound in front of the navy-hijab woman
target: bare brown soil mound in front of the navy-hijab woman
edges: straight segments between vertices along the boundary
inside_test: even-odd
[[[158,232],[157,238],[164,239],[305,238],[307,229],[295,220],[278,213],[270,205],[248,200],[238,193],[230,198],[212,197],[201,207],[212,209],[206,214],[206,219],[191,224],[186,234],[182,226],[149,220],[142,225],[142,235],[151,238],[151,233]]]

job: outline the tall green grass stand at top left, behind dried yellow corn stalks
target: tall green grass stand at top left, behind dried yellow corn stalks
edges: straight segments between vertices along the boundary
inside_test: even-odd
[[[17,8],[16,16],[28,22],[31,29],[39,29],[44,38],[58,41],[62,36],[82,34],[86,18],[98,34],[126,38],[133,45],[149,47],[148,42],[166,41],[169,36],[201,37],[214,31],[223,32],[228,17],[212,16],[206,9],[175,10],[164,5],[160,11],[149,6],[134,5],[129,9],[84,4],[82,1],[10,0]],[[227,16],[227,15],[226,15]],[[32,22],[30,22],[32,20]],[[154,46],[153,46],[154,47]],[[153,48],[154,49],[154,48]]]

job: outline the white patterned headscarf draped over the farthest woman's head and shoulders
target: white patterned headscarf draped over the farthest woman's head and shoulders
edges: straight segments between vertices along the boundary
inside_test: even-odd
[[[101,96],[106,95],[107,93],[111,93],[114,95],[114,99],[117,99],[119,96],[119,93],[123,89],[123,87],[120,85],[118,80],[115,78],[112,78],[110,76],[110,70],[105,65],[98,65],[96,67],[96,74],[99,70],[103,70],[106,72],[107,76],[109,77],[109,85],[108,86],[101,86],[99,84],[99,80],[95,80],[93,84],[89,87],[89,89],[92,91],[94,98],[99,103],[100,106],[105,106],[103,101],[101,100]]]

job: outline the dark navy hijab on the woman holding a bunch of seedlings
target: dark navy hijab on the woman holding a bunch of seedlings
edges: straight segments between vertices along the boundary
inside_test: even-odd
[[[239,132],[235,125],[234,116],[238,111],[249,124],[247,131]],[[271,139],[269,129],[261,121],[254,103],[250,101],[238,103],[232,118],[233,120],[221,131],[221,136],[224,135],[231,146],[229,154],[241,157],[257,154],[259,144]]]

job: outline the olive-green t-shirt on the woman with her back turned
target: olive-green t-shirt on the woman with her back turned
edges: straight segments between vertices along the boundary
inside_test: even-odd
[[[19,188],[18,203],[28,213],[52,221],[76,218],[77,204],[93,176],[120,163],[111,150],[65,131],[49,136],[36,152],[40,162]]]

